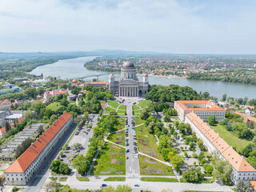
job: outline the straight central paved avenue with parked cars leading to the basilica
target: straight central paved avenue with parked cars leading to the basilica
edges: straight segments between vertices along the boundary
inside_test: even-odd
[[[135,130],[132,128],[132,101],[130,99],[126,99],[126,113],[127,113],[127,120],[128,120],[128,143],[129,146],[126,146],[126,150],[130,150],[129,153],[126,153],[126,176],[127,178],[138,178],[139,176],[139,163],[138,163],[138,154],[134,152],[134,142],[137,142]]]

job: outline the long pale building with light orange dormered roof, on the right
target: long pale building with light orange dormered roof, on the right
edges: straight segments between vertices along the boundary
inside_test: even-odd
[[[238,181],[246,182],[256,179],[256,170],[239,155],[223,138],[221,138],[210,126],[207,126],[194,112],[186,114],[185,122],[189,123],[192,130],[201,138],[206,149],[211,153],[218,151],[220,158],[230,162],[233,168],[231,181],[236,184]]]

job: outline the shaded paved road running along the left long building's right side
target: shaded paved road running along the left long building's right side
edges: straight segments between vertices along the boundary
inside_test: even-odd
[[[70,138],[70,135],[73,133],[76,126],[76,124],[70,126],[70,129],[65,135],[62,136],[57,145],[54,147],[54,150],[52,150],[49,156],[46,158],[46,161],[42,163],[37,173],[31,178],[26,191],[34,192],[41,190],[41,187],[46,182],[46,178],[48,177],[50,163],[54,160],[54,158],[57,158],[60,149],[66,143],[68,138]]]

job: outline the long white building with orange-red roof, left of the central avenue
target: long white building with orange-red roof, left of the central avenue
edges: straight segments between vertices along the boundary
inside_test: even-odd
[[[73,115],[64,113],[4,172],[6,185],[24,186],[66,133]]]

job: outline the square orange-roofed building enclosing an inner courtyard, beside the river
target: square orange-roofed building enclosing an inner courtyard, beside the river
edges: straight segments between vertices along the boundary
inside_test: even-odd
[[[182,121],[185,120],[186,114],[192,111],[205,122],[211,115],[215,116],[216,121],[222,121],[226,114],[226,110],[210,101],[175,101],[174,109],[177,110],[178,118]]]

